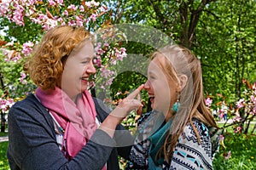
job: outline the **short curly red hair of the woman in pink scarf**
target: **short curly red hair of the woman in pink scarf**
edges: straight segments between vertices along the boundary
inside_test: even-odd
[[[39,88],[54,89],[69,54],[91,39],[90,32],[82,27],[55,26],[44,34],[24,69]]]

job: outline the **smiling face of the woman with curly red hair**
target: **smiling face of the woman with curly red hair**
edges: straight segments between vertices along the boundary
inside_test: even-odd
[[[87,41],[77,53],[67,58],[61,77],[61,89],[73,100],[88,88],[90,75],[96,73],[93,57],[93,45]]]

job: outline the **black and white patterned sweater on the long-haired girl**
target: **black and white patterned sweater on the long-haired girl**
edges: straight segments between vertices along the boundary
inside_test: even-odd
[[[126,169],[212,169],[212,159],[218,150],[219,134],[216,129],[208,128],[197,119],[194,119],[193,123],[200,135],[201,144],[191,124],[188,124],[177,140],[170,157],[171,164],[167,164],[164,160],[157,168],[148,166],[151,141],[147,133],[153,130],[156,115],[157,111],[152,111],[143,115],[138,121],[138,135],[131,148]]]

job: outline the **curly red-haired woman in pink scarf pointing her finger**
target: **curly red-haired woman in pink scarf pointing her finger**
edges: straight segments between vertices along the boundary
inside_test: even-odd
[[[131,148],[113,147],[122,138],[133,141],[130,133],[114,133],[142,105],[134,98],[143,86],[108,115],[87,91],[93,56],[84,28],[56,26],[44,35],[26,65],[38,88],[9,111],[11,169],[119,169],[118,153],[129,156]]]

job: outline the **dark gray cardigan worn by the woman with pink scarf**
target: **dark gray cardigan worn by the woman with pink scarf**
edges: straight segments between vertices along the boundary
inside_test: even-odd
[[[109,109],[101,100],[94,99],[97,118],[102,122]],[[13,170],[53,169],[102,169],[106,161],[108,170],[119,169],[118,155],[127,158],[134,138],[124,127],[117,129],[113,139],[97,129],[90,141],[84,145],[71,161],[63,156],[55,139],[52,117],[33,94],[18,101],[9,110],[9,147],[7,156]],[[126,142],[126,144],[123,144]],[[115,147],[116,145],[128,145]]]

